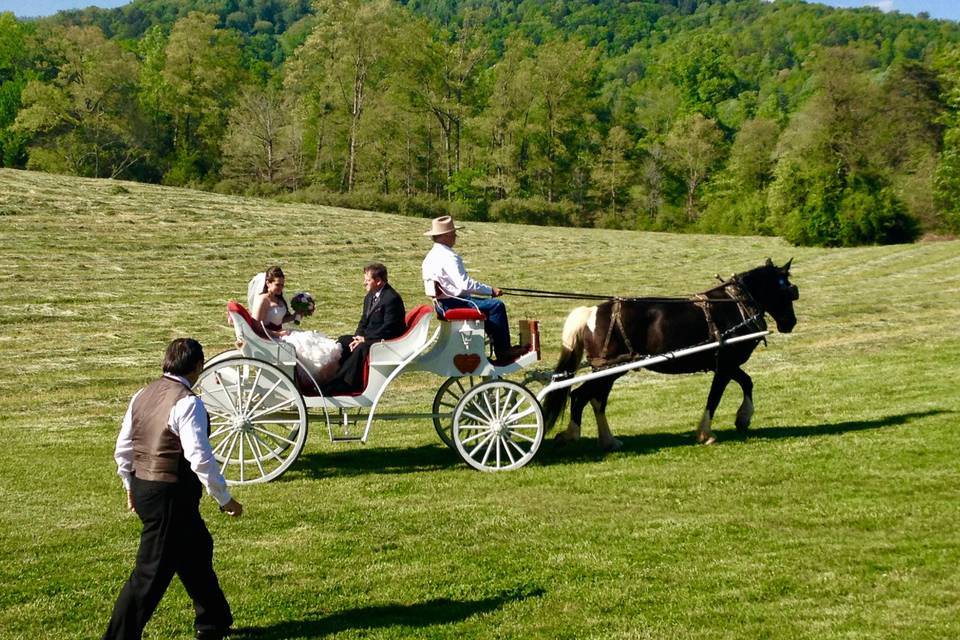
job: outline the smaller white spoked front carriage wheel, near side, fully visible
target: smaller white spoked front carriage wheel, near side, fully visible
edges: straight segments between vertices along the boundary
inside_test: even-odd
[[[490,380],[463,394],[453,412],[453,442],[480,471],[509,471],[530,462],[543,441],[540,403],[522,385]]]

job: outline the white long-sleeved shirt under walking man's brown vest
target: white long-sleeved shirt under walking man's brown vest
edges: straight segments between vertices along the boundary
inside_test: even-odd
[[[186,378],[169,373],[164,377],[183,384],[188,389],[190,382]],[[117,448],[113,457],[117,461],[117,475],[123,480],[123,486],[130,490],[130,479],[133,477],[133,403],[143,391],[137,391],[130,399],[127,413],[123,416],[120,435],[117,437]],[[167,428],[178,438],[183,447],[183,456],[190,463],[190,468],[200,478],[200,482],[207,488],[207,493],[217,501],[221,507],[230,502],[230,491],[227,482],[220,473],[210,440],[207,437],[206,409],[197,396],[190,395],[177,401],[170,409],[170,419]]]

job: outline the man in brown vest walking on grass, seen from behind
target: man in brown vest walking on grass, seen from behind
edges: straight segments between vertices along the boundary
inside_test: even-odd
[[[138,640],[174,574],[193,600],[196,638],[219,640],[233,624],[213,570],[213,538],[200,516],[202,486],[221,511],[238,517],[243,507],[227,490],[210,449],[207,410],[190,390],[202,370],[200,343],[174,340],[163,376],[133,396],[123,418],[114,457],[127,507],[143,531],[104,640]]]

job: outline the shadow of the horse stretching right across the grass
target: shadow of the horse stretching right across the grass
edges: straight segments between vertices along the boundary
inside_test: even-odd
[[[884,416],[873,420],[849,420],[833,424],[795,425],[787,427],[761,427],[740,433],[735,429],[714,430],[718,443],[734,440],[748,440],[764,438],[777,440],[780,438],[805,438],[810,436],[829,436],[854,431],[883,429],[907,424],[913,420],[930,416],[954,413],[946,409],[930,409],[898,415]],[[614,435],[623,442],[623,449],[619,453],[646,454],[672,447],[689,447],[694,444],[693,432],[686,433],[643,433],[637,435]],[[559,445],[550,440],[545,441],[537,452],[536,462],[542,465],[570,464],[603,460],[607,454],[597,446],[596,437],[586,437],[578,442]]]

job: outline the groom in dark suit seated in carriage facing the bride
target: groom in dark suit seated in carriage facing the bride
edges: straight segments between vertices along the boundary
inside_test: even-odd
[[[363,369],[370,345],[396,338],[406,331],[403,299],[387,282],[387,268],[372,262],[363,268],[363,315],[352,336],[340,336],[343,349],[340,368],[321,386],[324,395],[342,395],[363,390]]]

